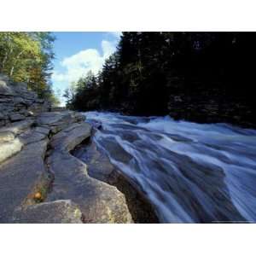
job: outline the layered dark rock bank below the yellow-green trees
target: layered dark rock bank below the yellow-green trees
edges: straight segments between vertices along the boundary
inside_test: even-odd
[[[49,102],[39,99],[25,83],[15,83],[0,74],[0,127],[49,111]]]

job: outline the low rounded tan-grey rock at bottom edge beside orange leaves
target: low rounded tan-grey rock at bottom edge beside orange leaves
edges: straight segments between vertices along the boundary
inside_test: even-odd
[[[16,211],[13,223],[81,224],[82,212],[70,200],[51,201]]]

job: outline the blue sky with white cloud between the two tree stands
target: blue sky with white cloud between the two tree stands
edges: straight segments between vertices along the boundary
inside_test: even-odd
[[[90,70],[97,73],[109,55],[113,54],[121,32],[53,32],[55,35],[55,61],[52,84],[60,97],[73,81]],[[58,93],[59,92],[59,93]]]

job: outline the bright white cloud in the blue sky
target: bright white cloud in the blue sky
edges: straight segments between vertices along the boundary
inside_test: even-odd
[[[115,51],[115,45],[116,42],[103,40],[102,55],[97,49],[84,49],[75,55],[64,58],[61,61],[64,72],[55,70],[52,75],[54,83],[77,81],[90,70],[97,73],[102,68],[104,61]]]

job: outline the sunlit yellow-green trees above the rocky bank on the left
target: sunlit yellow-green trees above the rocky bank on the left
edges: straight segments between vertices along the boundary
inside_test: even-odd
[[[51,32],[1,32],[0,73],[26,82],[40,98],[59,100],[51,88],[55,37]]]

